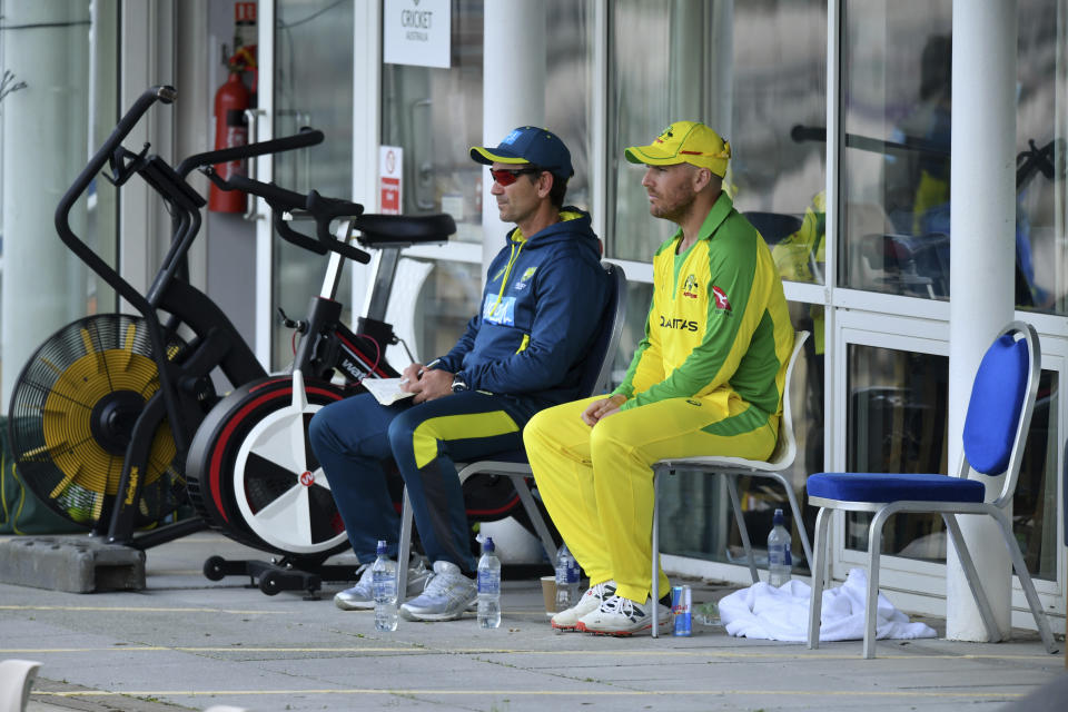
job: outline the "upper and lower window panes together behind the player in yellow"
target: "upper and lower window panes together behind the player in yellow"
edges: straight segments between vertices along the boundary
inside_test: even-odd
[[[728,9],[711,1],[620,0],[610,4],[610,23],[607,255],[649,261],[676,229],[650,216],[642,169],[626,162],[623,149],[649,142],[672,120],[698,119],[731,142],[728,190],[773,247],[783,276],[822,283],[827,3],[759,0]],[[629,287],[617,379],[644,334],[652,293],[633,279]],[[805,474],[823,463],[822,307],[791,305],[791,318],[813,332],[791,396],[799,442],[791,477],[801,492]],[[746,483],[742,492],[746,526],[762,548],[785,495]],[[669,477],[661,497],[662,551],[743,560],[721,477]]]

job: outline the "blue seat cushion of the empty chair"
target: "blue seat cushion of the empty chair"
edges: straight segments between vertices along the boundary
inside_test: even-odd
[[[842,502],[982,502],[986,485],[948,475],[821,472],[805,483],[810,497]]]

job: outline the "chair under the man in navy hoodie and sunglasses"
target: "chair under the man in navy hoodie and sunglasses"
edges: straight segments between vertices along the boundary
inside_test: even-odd
[[[578,382],[578,397],[584,398],[609,389],[612,376],[612,359],[620,346],[620,335],[626,322],[626,275],[619,265],[602,261],[601,266],[609,274],[611,288],[609,303],[604,307],[604,317],[601,320],[602,329],[586,357],[585,370]],[[459,469],[459,482],[463,483],[472,475],[490,474],[508,477],[515,487],[523,510],[530,517],[537,536],[545,548],[548,561],[556,556],[556,543],[545,524],[534,496],[531,494],[527,478],[533,477],[531,464],[526,459],[526,452],[522,448],[494,453],[488,459],[471,463]],[[404,488],[404,503],[400,507],[400,541],[397,551],[397,591],[407,591],[408,560],[412,555],[412,503],[408,500],[408,488]]]

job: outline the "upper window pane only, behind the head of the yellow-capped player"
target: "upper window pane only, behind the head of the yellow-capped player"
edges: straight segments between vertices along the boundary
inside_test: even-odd
[[[649,216],[642,169],[623,149],[695,119],[731,142],[728,190],[769,244],[782,243],[783,275],[821,283],[827,3],[623,0],[610,11],[609,255],[647,261],[675,230]]]

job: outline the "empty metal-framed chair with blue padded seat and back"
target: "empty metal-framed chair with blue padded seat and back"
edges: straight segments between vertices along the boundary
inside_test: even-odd
[[[809,477],[809,504],[820,507],[815,520],[815,561],[809,603],[809,647],[819,647],[820,610],[828,560],[828,525],[834,510],[872,512],[868,540],[868,593],[864,611],[864,657],[876,656],[876,606],[882,527],[898,512],[937,513],[952,538],[990,642],[1001,640],[990,603],[957,524],[958,514],[986,514],[1001,530],[1035,616],[1046,650],[1056,652],[1054,635],[1027,572],[1012,525],[1002,508],[1012,498],[1027,429],[1035,408],[1039,376],[1038,335],[1030,324],[1012,322],[982,357],[971,386],[965,419],[963,453],[955,476],[904,473],[819,473]],[[969,479],[975,471],[1002,477],[997,498],[987,500],[987,478]]]

